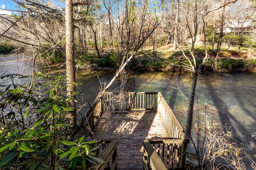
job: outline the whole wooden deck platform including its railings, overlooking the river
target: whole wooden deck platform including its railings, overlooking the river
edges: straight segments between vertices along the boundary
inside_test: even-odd
[[[108,156],[117,152],[117,166],[112,167],[109,161],[108,167],[122,170],[184,168],[188,140],[162,94],[129,93],[126,104],[118,101],[117,95],[106,93],[101,97],[88,115],[83,132],[86,138],[118,140],[117,149],[110,149]]]

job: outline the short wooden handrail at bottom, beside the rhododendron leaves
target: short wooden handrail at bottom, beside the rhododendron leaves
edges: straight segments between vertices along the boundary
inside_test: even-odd
[[[118,160],[118,154],[117,154],[117,146],[118,146],[118,140],[113,139],[102,152],[98,155],[98,158],[104,160],[104,163],[98,163],[97,165],[94,165],[90,167],[90,170],[104,170],[106,166],[108,165],[109,160],[112,158],[112,167],[111,170],[117,170],[117,160]]]

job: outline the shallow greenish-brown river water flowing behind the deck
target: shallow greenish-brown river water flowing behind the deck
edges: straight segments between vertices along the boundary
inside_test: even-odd
[[[54,68],[58,72],[65,71],[64,68]],[[0,55],[0,75],[18,72],[27,74],[30,69],[31,63],[28,57]],[[92,103],[100,91],[100,85],[104,87],[104,82],[107,84],[113,76],[112,71],[77,69],[76,81],[83,84],[78,89],[83,93],[83,97],[77,98],[78,103],[80,105]],[[186,117],[183,110],[188,107],[188,102],[184,96],[189,97],[190,94],[191,74],[186,72],[180,75],[177,75],[177,72],[136,72],[130,73],[128,83],[130,92],[161,92],[178,120],[185,123]],[[1,84],[3,82],[0,82]],[[116,80],[109,91],[115,91],[119,86],[120,82]],[[177,87],[181,92],[177,90]],[[215,120],[216,126],[231,127],[236,140],[245,146],[245,150],[251,156],[256,154],[255,87],[255,72],[205,72],[199,75],[195,98],[195,108],[199,108],[199,112],[209,114]]]

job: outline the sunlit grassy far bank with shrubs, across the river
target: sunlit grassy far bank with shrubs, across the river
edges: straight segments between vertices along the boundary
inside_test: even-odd
[[[191,44],[189,44],[191,48]],[[190,52],[189,52],[189,47],[183,47],[182,50],[188,57],[192,57]],[[149,70],[149,71],[154,71],[154,70],[162,70],[162,71],[167,71],[167,70],[180,70],[180,68],[175,65],[175,64],[170,64],[176,61],[179,61],[180,59],[184,59],[182,50],[176,49],[174,50],[172,47],[172,44],[168,45],[155,45],[155,46],[143,46],[140,48],[140,50],[136,53],[135,55],[135,63],[132,63],[129,70]],[[104,52],[103,52],[104,51]],[[105,61],[112,62],[111,58],[109,57],[108,54],[111,54],[111,49],[110,48],[104,48],[103,51],[100,53],[102,59]],[[213,61],[215,61],[214,56],[215,56],[215,51],[216,47],[212,49],[212,46],[208,45],[207,47],[207,53],[210,57],[208,62],[209,66],[205,66],[204,70],[207,71],[239,71],[239,70],[252,70],[256,71],[256,49],[252,48],[247,48],[247,47],[227,47],[223,45],[220,55],[218,59],[220,59],[219,65],[222,64],[224,67],[220,68],[213,68]],[[92,50],[90,53],[94,53],[95,51]],[[112,56],[112,55],[111,55]],[[204,58],[205,56],[205,48],[204,44],[201,42],[197,42],[194,47],[194,56],[196,59],[198,58]],[[104,58],[106,57],[106,58]],[[243,59],[244,61],[236,61],[238,59]],[[252,61],[253,64],[250,63],[248,60],[254,60]],[[225,63],[224,63],[225,61]],[[104,63],[103,62],[103,63]],[[168,64],[169,63],[169,64]],[[224,64],[223,64],[224,63]],[[249,63],[249,64],[248,64]],[[113,64],[113,63],[112,63]],[[118,63],[116,63],[116,67],[114,68],[109,67],[110,64],[88,64],[86,62],[82,64],[76,65],[76,68],[78,69],[90,69],[90,70],[115,70],[118,68]],[[186,68],[184,68],[186,69]]]

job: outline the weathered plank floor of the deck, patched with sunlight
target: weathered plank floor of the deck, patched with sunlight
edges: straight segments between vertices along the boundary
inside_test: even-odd
[[[118,170],[143,169],[143,139],[168,139],[160,113],[135,111],[104,112],[94,128],[96,140],[118,139]]]

